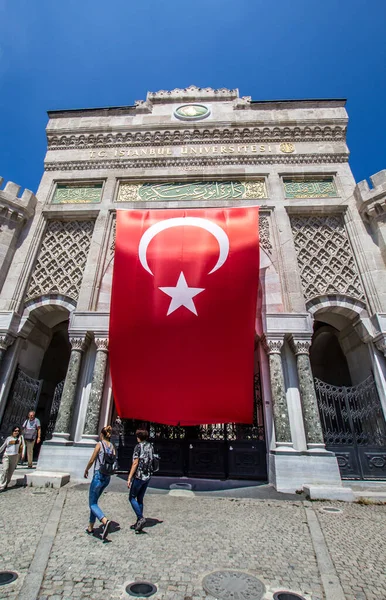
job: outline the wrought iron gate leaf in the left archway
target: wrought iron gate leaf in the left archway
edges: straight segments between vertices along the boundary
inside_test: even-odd
[[[0,438],[10,435],[14,425],[22,426],[28,412],[36,409],[42,383],[42,379],[33,379],[24,373],[19,366],[16,368],[1,422]]]

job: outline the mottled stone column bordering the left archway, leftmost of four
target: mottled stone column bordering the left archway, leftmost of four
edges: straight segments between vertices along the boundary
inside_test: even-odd
[[[76,388],[82,363],[82,354],[87,347],[87,338],[71,337],[70,344],[72,346],[70,362],[68,363],[58,418],[56,420],[55,431],[51,442],[66,443],[69,441]]]

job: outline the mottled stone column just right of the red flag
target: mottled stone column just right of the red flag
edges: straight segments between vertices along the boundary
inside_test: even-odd
[[[273,421],[275,425],[276,446],[292,447],[291,428],[285,393],[281,348],[284,336],[263,340],[269,359],[269,373],[272,391]]]

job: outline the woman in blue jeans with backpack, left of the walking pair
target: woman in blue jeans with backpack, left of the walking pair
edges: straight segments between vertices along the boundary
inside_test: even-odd
[[[86,533],[90,535],[93,533],[95,521],[99,519],[103,525],[103,540],[107,537],[111,521],[105,517],[102,509],[98,506],[98,500],[103,490],[109,485],[111,474],[114,472],[116,453],[114,444],[110,442],[111,432],[112,428],[110,426],[103,427],[100,433],[100,442],[95,446],[84,472],[84,476],[87,479],[88,472],[95,463],[94,476],[89,492],[90,520]]]

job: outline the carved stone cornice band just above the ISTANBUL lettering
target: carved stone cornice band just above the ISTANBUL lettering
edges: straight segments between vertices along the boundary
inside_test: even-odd
[[[345,141],[346,127],[340,125],[304,125],[273,127],[165,129],[104,133],[47,133],[49,150],[74,148],[121,148],[136,146],[179,146],[185,144],[220,144],[260,142],[335,142]]]

